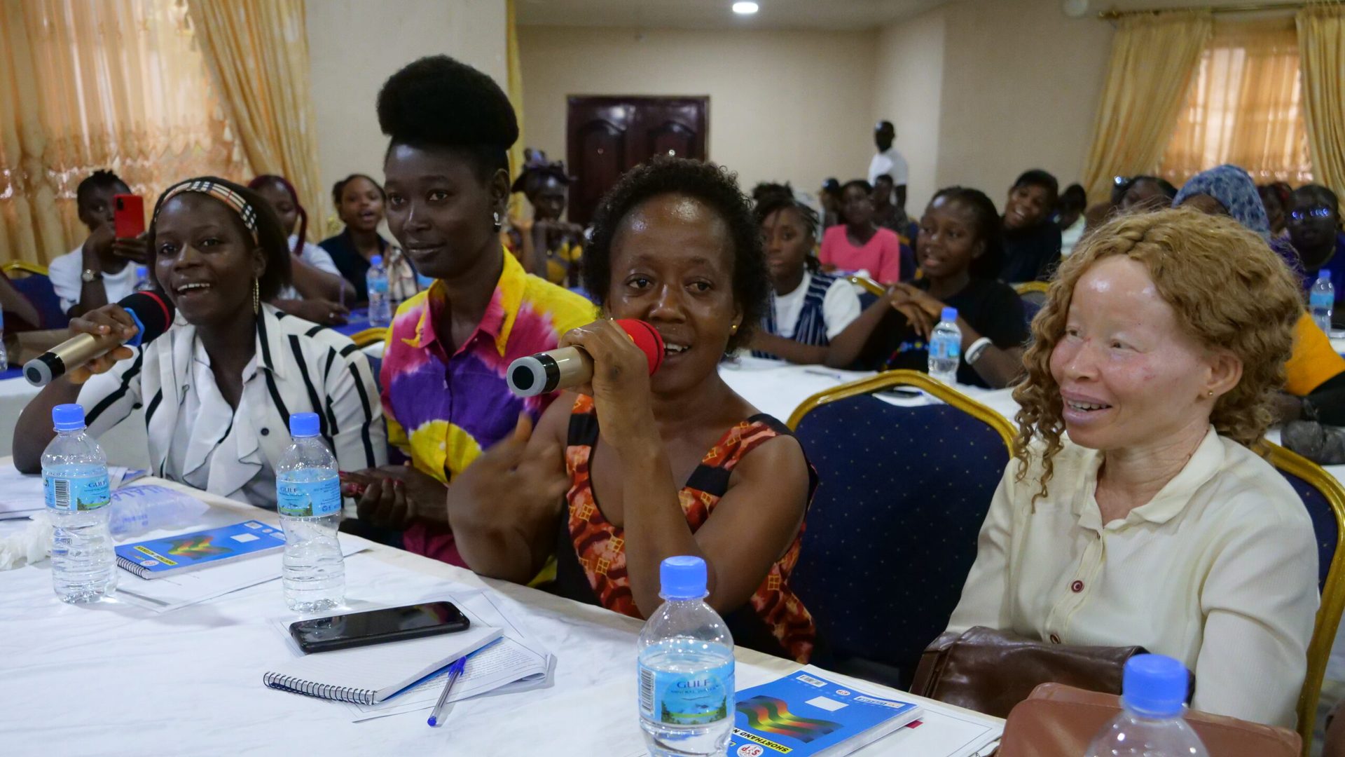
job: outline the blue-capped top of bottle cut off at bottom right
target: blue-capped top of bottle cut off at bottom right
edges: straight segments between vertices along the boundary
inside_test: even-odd
[[[1088,745],[1087,757],[1209,757],[1182,719],[1186,668],[1162,655],[1126,661],[1120,703],[1124,710]]]

